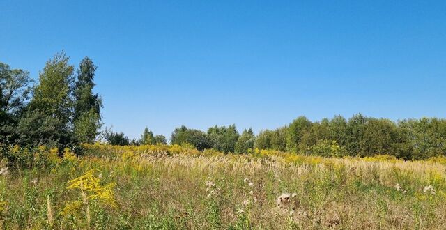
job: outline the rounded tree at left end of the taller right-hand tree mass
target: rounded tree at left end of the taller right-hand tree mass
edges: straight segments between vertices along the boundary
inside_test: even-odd
[[[312,122],[305,116],[299,116],[289,124],[286,139],[286,146],[289,151],[298,151],[302,136],[305,134],[305,132],[307,132],[307,129],[311,128],[311,126]]]

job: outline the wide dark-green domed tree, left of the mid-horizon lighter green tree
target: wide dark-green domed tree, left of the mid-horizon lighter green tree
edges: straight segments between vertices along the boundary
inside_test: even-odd
[[[175,128],[171,136],[171,144],[192,144],[199,151],[211,148],[210,139],[206,132],[188,129],[184,125]]]

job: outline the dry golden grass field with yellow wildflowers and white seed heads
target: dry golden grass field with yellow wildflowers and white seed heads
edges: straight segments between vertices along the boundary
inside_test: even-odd
[[[28,156],[22,163],[32,169],[12,169],[2,161],[2,227],[446,229],[442,159],[84,147],[86,155],[79,158],[69,151],[58,158],[46,148],[12,150]]]

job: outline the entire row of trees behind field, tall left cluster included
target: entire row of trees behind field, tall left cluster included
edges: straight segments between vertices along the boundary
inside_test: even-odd
[[[77,68],[65,53],[49,59],[33,82],[29,72],[0,63],[0,144],[50,145],[77,148],[79,143],[104,139],[109,144],[167,144],[164,135],[144,129],[140,139],[102,130],[102,98],[93,92],[95,66],[85,57]],[[102,130],[102,131],[101,131]],[[305,155],[393,155],[426,159],[446,155],[446,119],[391,121],[357,114],[309,121],[305,116],[275,130],[238,132],[236,125],[213,126],[207,132],[175,128],[170,144],[189,144],[202,151],[249,153],[255,148]]]

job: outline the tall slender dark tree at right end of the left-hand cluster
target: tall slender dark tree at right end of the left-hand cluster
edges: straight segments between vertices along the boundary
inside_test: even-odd
[[[73,124],[75,137],[79,141],[92,143],[102,126],[100,123],[100,108],[102,99],[93,93],[94,77],[98,66],[95,66],[89,57],[79,63],[77,79],[72,95],[74,98]]]

